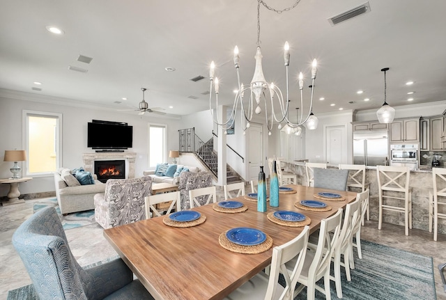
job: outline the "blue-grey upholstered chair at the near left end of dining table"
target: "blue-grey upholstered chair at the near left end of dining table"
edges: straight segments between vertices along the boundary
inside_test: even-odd
[[[153,299],[121,259],[80,267],[54,207],[24,221],[14,232],[13,245],[40,299]]]

